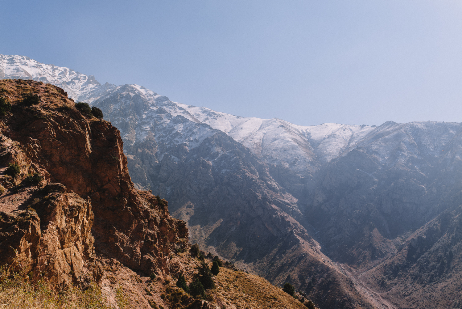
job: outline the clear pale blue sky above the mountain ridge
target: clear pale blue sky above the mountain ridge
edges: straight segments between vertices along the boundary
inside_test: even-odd
[[[0,54],[294,124],[462,122],[462,2],[3,1]]]

